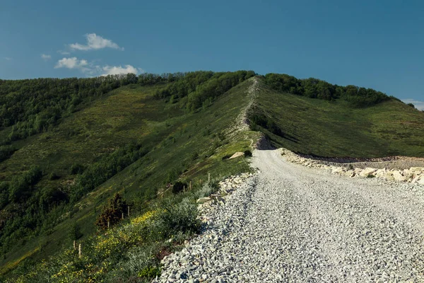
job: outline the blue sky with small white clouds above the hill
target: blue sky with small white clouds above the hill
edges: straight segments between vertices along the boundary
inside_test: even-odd
[[[423,14],[413,0],[2,0],[0,79],[252,69],[424,109]]]

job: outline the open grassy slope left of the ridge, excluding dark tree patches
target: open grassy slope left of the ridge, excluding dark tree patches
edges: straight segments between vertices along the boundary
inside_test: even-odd
[[[251,83],[240,83],[195,112],[187,112],[179,103],[154,98],[163,86],[131,84],[73,113],[47,132],[16,141],[13,146],[18,151],[1,163],[0,178],[11,180],[30,166],[39,166],[43,177],[33,187],[33,193],[53,190],[52,197],[54,192],[72,195],[73,184],[81,178],[71,173],[73,165],[90,168],[91,164],[101,162],[102,156],[131,142],[141,145],[146,155],[120,168],[122,171],[76,204],[53,207],[51,212],[46,212],[45,219],[31,224],[39,233],[30,234],[30,238],[23,236],[18,243],[17,234],[11,234],[4,241],[8,248],[4,246],[5,253],[0,259],[1,272],[16,267],[26,258],[38,260],[69,246],[69,229],[73,225],[84,236],[95,232],[95,218],[116,192],[131,200],[131,211],[139,214],[151,207],[167,183],[192,180],[193,187],[199,187],[200,180],[206,180],[208,173],[213,178],[223,178],[249,170],[245,159],[223,160],[223,157],[249,149],[258,138],[255,132],[228,132],[228,126],[247,105],[246,93]],[[167,191],[164,195],[172,193]],[[6,218],[15,209],[31,213],[24,205],[11,207],[11,204],[1,213]],[[13,225],[7,227],[13,229]]]

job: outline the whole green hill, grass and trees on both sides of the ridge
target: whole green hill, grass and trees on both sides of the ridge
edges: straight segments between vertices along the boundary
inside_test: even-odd
[[[251,130],[237,132],[253,97]],[[119,226],[127,207],[131,216],[175,208],[189,194],[180,190],[200,190],[209,173],[248,171],[247,159],[228,157],[251,151],[261,134],[317,156],[419,156],[423,125],[423,112],[379,91],[285,74],[0,80],[0,273],[18,276],[73,240],[102,235],[105,219]],[[168,226],[148,241],[195,230],[189,215],[155,215]],[[93,253],[112,265],[128,260],[124,250]]]

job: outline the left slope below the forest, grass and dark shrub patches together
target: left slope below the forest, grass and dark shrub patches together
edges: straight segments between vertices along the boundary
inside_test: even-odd
[[[162,205],[155,204],[158,195],[178,201],[187,195],[177,182],[186,189],[191,182],[195,192],[208,173],[224,178],[249,171],[244,158],[222,157],[250,149],[259,137],[257,132],[228,130],[247,105],[251,83],[239,83],[194,111],[187,111],[187,98],[171,102],[155,97],[168,86],[166,79],[155,85],[129,84],[81,105],[45,132],[11,141],[17,150],[1,163],[0,171],[5,200],[0,272],[16,277],[32,268],[32,262],[69,247],[70,238],[88,241],[97,231],[95,220],[105,201],[117,192],[129,200],[131,215],[139,215]],[[42,178],[28,185],[23,202],[10,200],[13,176],[30,165],[40,168]],[[167,183],[177,186],[168,190]],[[181,226],[183,220],[172,225]]]

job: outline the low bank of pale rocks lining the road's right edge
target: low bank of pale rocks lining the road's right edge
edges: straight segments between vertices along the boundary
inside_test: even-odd
[[[305,158],[289,151],[288,149],[279,149],[281,155],[291,163],[298,163],[305,167],[319,168],[329,170],[331,173],[346,175],[351,178],[380,178],[387,181],[406,182],[411,184],[424,185],[424,167],[411,167],[408,169],[388,169],[388,168],[354,168],[353,166],[334,166],[326,162]]]

